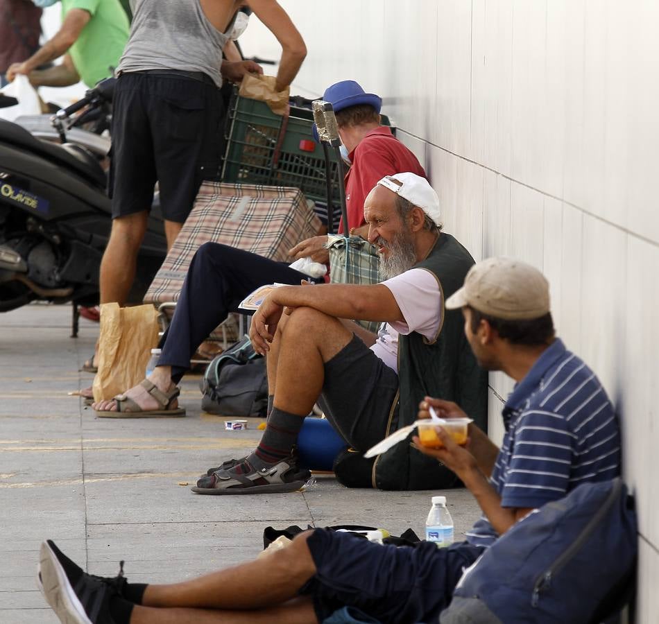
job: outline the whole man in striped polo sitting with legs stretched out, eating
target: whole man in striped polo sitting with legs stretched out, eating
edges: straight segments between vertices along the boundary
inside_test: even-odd
[[[369,211],[372,228],[375,218]],[[286,300],[298,303],[290,294]],[[427,541],[395,548],[317,528],[267,557],[171,585],[88,575],[47,541],[39,582],[62,621],[76,614],[94,624],[156,623],[168,616],[177,622],[437,622],[464,569],[518,519],[581,483],[619,474],[613,406],[594,373],[554,338],[549,288],[537,269],[512,259],[483,261],[445,308],[446,315],[462,309],[479,363],[517,381],[504,408],[501,450],[472,425],[466,448],[441,428],[445,449],[420,448],[454,469],[483,510],[465,541],[449,548]],[[463,415],[455,404],[426,397],[420,416],[428,416],[428,404],[445,417]],[[469,621],[484,621],[482,609],[478,613]]]

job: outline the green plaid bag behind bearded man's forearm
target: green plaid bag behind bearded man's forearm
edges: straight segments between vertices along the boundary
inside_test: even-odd
[[[327,249],[330,250],[330,281],[334,284],[377,284],[379,257],[373,245],[360,236],[348,237],[330,234],[327,236]],[[357,322],[368,331],[377,333],[381,323],[377,321]]]

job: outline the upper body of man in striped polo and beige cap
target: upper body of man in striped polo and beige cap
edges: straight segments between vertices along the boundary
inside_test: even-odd
[[[594,372],[554,336],[549,285],[536,268],[508,258],[480,262],[446,307],[462,309],[479,365],[517,382],[503,410],[501,449],[473,424],[471,453],[455,444],[420,447],[474,494],[483,517],[467,541],[490,546],[532,509],[584,481],[619,475],[618,422]],[[420,417],[428,416],[428,406],[445,417],[465,415],[455,404],[426,397]]]

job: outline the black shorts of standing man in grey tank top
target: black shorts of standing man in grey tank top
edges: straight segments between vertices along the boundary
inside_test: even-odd
[[[112,102],[112,218],[148,210],[157,180],[166,220],[183,223],[202,180],[219,178],[224,107],[208,77],[131,72]]]

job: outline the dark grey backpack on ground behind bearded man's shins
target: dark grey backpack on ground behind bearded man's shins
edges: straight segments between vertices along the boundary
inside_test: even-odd
[[[201,408],[221,416],[264,418],[268,410],[266,361],[246,336],[213,358],[200,383]]]

